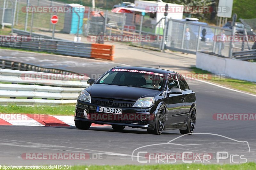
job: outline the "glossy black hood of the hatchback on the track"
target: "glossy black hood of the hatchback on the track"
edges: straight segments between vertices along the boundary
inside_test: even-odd
[[[91,97],[136,101],[141,97],[154,97],[158,90],[108,84],[93,84],[86,89]]]

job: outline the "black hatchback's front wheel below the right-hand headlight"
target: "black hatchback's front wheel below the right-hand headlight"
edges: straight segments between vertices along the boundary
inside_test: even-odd
[[[166,119],[165,108],[164,106],[161,106],[156,116],[155,129],[154,130],[147,129],[148,133],[154,134],[154,135],[160,135],[164,131],[165,119]]]

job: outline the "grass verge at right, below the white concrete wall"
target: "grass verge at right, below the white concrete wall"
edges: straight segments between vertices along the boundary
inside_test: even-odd
[[[196,68],[196,67],[190,67],[190,68],[192,69],[192,73],[195,73],[195,74],[212,74],[211,72],[202,70],[200,68]],[[211,81],[213,83],[220,84],[228,88],[256,94],[256,82],[237,80],[237,79],[232,79],[228,77],[225,77],[225,78],[213,77],[212,79],[208,79],[207,81]]]

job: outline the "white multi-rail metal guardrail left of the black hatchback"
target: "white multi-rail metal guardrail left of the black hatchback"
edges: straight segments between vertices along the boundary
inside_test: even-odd
[[[88,79],[82,75],[0,69],[0,104],[76,103],[79,93],[89,86]]]

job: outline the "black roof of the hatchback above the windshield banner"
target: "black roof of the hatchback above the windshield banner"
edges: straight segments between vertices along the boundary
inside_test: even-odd
[[[164,70],[160,68],[151,68],[151,67],[139,67],[139,66],[117,66],[115,69],[128,69],[128,70],[140,70],[140,71],[149,71],[160,74],[176,73],[170,70]]]

